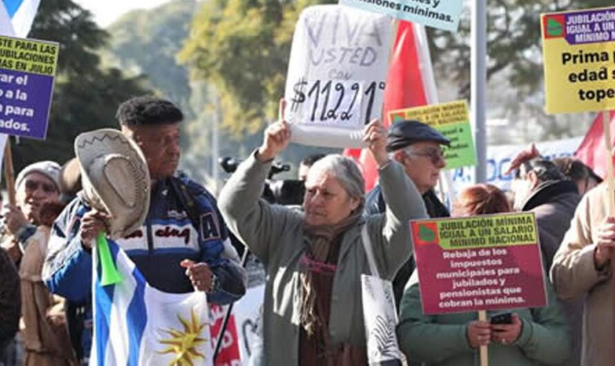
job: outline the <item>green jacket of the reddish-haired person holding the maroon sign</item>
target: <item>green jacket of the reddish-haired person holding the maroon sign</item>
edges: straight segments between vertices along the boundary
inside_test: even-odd
[[[489,365],[558,365],[569,356],[569,327],[547,281],[547,307],[511,309],[521,318],[521,334],[513,345],[489,345]],[[401,299],[397,339],[408,360],[429,366],[480,365],[478,349],[466,337],[466,325],[477,320],[476,313],[424,315],[417,272],[406,285]],[[487,311],[487,316],[491,312]]]

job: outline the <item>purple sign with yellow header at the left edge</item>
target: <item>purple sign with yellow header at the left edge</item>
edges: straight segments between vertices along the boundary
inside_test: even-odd
[[[59,45],[0,36],[0,133],[45,139]]]

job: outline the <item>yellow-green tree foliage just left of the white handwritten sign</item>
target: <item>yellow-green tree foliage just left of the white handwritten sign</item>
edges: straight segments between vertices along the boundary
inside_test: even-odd
[[[321,0],[213,0],[202,5],[180,53],[216,88],[223,126],[256,133],[276,118],[299,12]]]

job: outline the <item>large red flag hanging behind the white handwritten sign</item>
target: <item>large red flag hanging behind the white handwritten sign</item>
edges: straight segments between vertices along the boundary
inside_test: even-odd
[[[419,49],[422,48],[423,49]],[[384,92],[383,124],[388,127],[388,111],[424,106],[428,95],[426,82],[433,81],[430,62],[425,60],[429,50],[417,41],[413,23],[399,21],[395,46],[388,68],[386,90]],[[346,149],[343,155],[359,160],[363,168],[366,191],[376,184],[378,167],[367,149]]]

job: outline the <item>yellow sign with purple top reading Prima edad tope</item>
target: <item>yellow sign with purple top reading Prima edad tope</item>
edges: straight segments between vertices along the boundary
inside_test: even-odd
[[[547,113],[615,108],[615,8],[541,15]]]

